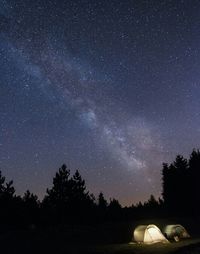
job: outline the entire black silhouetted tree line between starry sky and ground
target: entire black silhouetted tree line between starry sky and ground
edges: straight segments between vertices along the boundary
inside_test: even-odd
[[[187,160],[178,155],[171,164],[163,164],[162,197],[122,207],[115,198],[107,201],[102,192],[90,193],[77,170],[73,175],[63,164],[53,177],[52,187],[42,201],[27,190],[15,192],[13,181],[0,171],[1,227],[35,227],[59,224],[101,223],[104,221],[155,218],[169,215],[198,215],[200,197],[200,152],[193,150]],[[134,193],[133,193],[134,195]]]

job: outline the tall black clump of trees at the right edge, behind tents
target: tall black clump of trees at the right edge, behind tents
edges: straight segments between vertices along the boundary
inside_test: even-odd
[[[178,155],[175,161],[163,164],[162,186],[165,209],[172,215],[199,213],[200,152],[193,150],[189,160]]]

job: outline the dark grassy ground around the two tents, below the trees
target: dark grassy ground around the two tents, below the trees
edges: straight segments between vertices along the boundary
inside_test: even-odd
[[[197,221],[182,223],[191,234],[188,240],[167,244],[128,244],[138,224],[155,223],[162,228],[170,221],[137,221],[107,223],[98,226],[66,226],[35,230],[0,231],[0,253],[3,254],[197,254],[200,253],[200,232]],[[198,227],[197,227],[198,226]],[[192,231],[193,229],[193,231]],[[198,234],[199,233],[199,234]]]

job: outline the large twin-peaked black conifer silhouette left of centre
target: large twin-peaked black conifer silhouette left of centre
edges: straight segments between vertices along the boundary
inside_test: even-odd
[[[52,188],[47,189],[43,207],[51,209],[60,220],[69,221],[72,217],[85,218],[93,206],[93,196],[86,190],[85,180],[78,170],[70,178],[70,170],[62,165],[53,178]]]

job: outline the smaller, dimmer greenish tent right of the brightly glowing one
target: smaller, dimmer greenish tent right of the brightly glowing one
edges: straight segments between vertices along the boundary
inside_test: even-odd
[[[189,238],[190,237],[190,235],[188,234],[186,229],[182,225],[180,225],[180,224],[167,225],[164,228],[163,233],[169,239],[172,239],[174,237],[178,237],[179,239]]]

